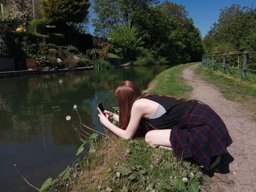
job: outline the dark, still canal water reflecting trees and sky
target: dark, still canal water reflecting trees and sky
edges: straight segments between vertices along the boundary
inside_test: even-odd
[[[102,131],[97,103],[111,110],[118,82],[132,80],[145,89],[164,69],[167,66],[141,66],[0,79],[0,191],[35,191],[14,164],[39,188],[78,159],[81,142],[73,128],[78,125],[74,104],[84,124]]]

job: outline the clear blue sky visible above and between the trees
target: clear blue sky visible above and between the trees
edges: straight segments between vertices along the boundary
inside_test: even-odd
[[[163,1],[160,0],[160,2]],[[253,5],[256,7],[256,0],[173,0],[171,2],[185,6],[189,18],[194,20],[195,26],[200,29],[202,37],[205,37],[213,23],[217,22],[220,9],[230,7],[231,4],[239,4],[241,6]],[[93,4],[93,1],[91,1],[91,4]],[[95,17],[91,8],[90,15],[91,18]],[[89,23],[89,33],[93,34],[93,31],[94,27]]]

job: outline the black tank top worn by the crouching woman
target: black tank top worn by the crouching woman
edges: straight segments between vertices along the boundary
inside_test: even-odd
[[[151,101],[155,101],[162,105],[165,108],[166,112],[160,116],[159,118],[148,119],[143,118],[146,123],[148,123],[152,128],[156,129],[166,129],[166,128],[174,128],[181,122],[181,118],[183,117],[186,110],[193,103],[192,101],[184,101],[178,100],[171,97],[166,96],[145,96],[143,99],[149,99]]]

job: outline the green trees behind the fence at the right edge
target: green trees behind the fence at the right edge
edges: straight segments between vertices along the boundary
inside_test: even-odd
[[[204,38],[206,53],[241,53],[256,50],[256,8],[233,4],[222,9],[219,20]]]

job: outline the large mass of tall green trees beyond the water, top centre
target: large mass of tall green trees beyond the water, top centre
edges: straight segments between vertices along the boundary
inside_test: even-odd
[[[195,28],[192,19],[188,18],[186,9],[170,1],[157,3],[95,1],[94,11],[98,16],[94,20],[95,32],[111,37],[111,42],[116,47],[114,52],[130,60],[138,58],[138,64],[148,63],[143,61],[147,58],[143,59],[140,47],[154,52],[151,61],[158,58],[165,58],[171,63],[199,61],[203,53],[202,39],[200,31]],[[127,47],[134,51],[126,50]],[[146,56],[150,58],[149,55]]]

